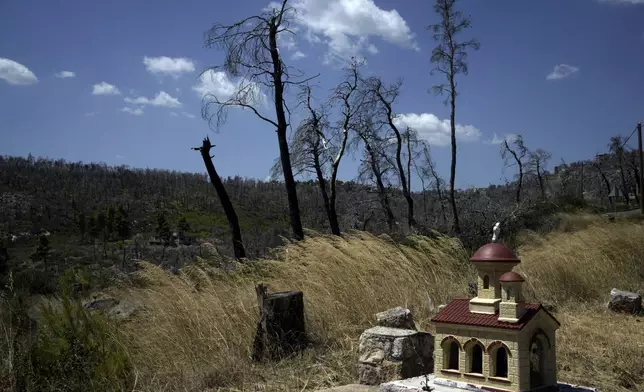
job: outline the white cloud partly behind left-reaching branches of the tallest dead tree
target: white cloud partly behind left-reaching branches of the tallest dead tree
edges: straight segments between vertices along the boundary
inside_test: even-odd
[[[243,91],[242,95],[245,96],[239,96],[239,98],[243,98],[244,103],[266,102],[266,96],[261,92],[259,86],[256,84],[241,85],[241,83],[241,80],[231,80],[225,72],[208,70],[199,77],[199,81],[192,89],[202,99],[206,96],[214,96],[224,102],[238,94],[239,91]]]

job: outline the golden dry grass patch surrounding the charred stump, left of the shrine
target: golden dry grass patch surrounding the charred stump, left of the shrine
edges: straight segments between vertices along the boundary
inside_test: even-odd
[[[406,306],[419,327],[427,327],[434,305],[467,290],[471,270],[457,241],[409,242],[413,247],[366,233],[316,236],[234,274],[193,267],[169,276],[146,264],[139,276],[146,287],[118,293],[147,308],[123,326],[139,385],[155,391],[290,391],[354,382],[357,338],[375,313]],[[259,281],[271,291],[304,292],[307,329],[316,345],[303,358],[250,362]]]

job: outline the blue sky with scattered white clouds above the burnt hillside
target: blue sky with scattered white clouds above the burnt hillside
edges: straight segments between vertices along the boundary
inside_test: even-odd
[[[440,82],[429,74],[435,43],[425,29],[437,20],[433,2],[291,3],[298,36],[281,52],[321,74],[318,98],[340,81],[337,61],[351,55],[366,56],[367,72],[386,81],[402,77],[396,111],[433,143],[447,180],[449,110],[428,93]],[[232,110],[214,133],[201,119],[200,94],[225,93],[235,80],[198,77],[222,60],[204,48],[204,31],[267,5],[1,1],[0,154],[203,172],[190,148],[210,135],[221,175],[266,177],[278,156],[273,129]],[[461,0],[459,8],[473,23],[463,38],[476,37],[481,49],[459,79],[458,187],[502,182],[494,139],[522,134],[529,148],[552,152],[552,166],[605,151],[611,135],[628,136],[643,119],[644,1]],[[354,178],[356,167],[344,161],[341,179]]]

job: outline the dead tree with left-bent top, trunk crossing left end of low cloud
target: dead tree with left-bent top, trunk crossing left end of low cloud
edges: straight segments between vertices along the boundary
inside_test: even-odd
[[[375,121],[379,122],[381,126],[385,126],[393,133],[395,139],[395,168],[396,174],[400,179],[400,186],[402,194],[407,201],[407,225],[410,229],[416,226],[416,219],[414,217],[414,199],[411,197],[411,189],[407,181],[408,175],[406,174],[405,167],[402,162],[402,149],[404,143],[403,133],[396,125],[396,113],[393,110],[393,104],[400,94],[401,82],[385,86],[382,80],[378,77],[372,76],[364,83],[364,93],[367,96],[367,103],[371,105],[371,109],[375,115]],[[389,139],[389,137],[387,137]]]

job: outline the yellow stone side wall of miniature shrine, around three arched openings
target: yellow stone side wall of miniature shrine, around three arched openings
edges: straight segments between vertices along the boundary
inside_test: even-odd
[[[466,351],[463,348],[459,353],[459,371],[460,374],[443,371],[443,347],[442,342],[446,337],[453,336],[463,346],[472,338],[476,338],[485,351],[483,352],[483,377],[466,375],[467,358]],[[495,328],[481,328],[456,325],[437,325],[434,343],[434,374],[437,377],[449,380],[464,381],[472,384],[486,385],[494,388],[505,389],[508,391],[519,391],[519,350],[518,341],[520,335],[518,331],[502,330]],[[510,350],[508,355],[508,378],[507,381],[497,381],[488,377],[490,373],[490,356],[488,348],[495,341],[501,341]]]

